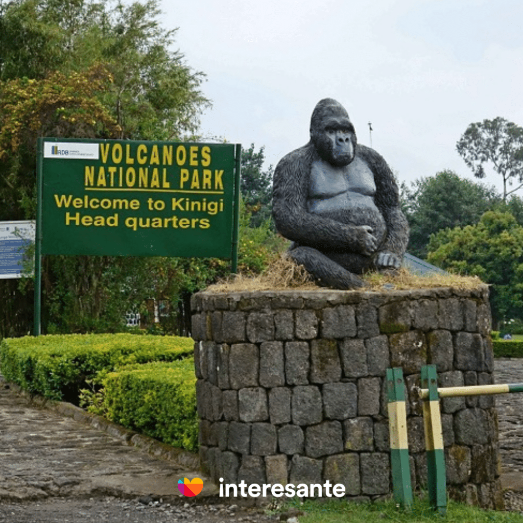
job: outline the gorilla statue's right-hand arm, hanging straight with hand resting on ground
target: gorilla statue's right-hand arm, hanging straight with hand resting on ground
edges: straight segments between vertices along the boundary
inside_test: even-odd
[[[400,208],[400,196],[394,175],[385,160],[373,149],[359,145],[359,154],[374,173],[376,183],[376,206],[380,210],[387,235],[378,247],[376,265],[378,268],[398,268],[408,243],[408,223]]]

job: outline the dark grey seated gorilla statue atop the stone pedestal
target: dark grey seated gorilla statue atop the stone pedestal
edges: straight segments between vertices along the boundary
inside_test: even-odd
[[[290,257],[321,286],[363,287],[356,275],[399,268],[408,243],[394,176],[376,151],[356,143],[336,100],[316,105],[310,136],[276,167],[276,228],[293,242]]]

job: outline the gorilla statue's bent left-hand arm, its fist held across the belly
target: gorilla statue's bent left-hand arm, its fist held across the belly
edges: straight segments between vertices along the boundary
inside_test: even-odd
[[[310,142],[283,157],[276,166],[272,200],[276,229],[289,240],[319,251],[372,255],[377,245],[370,227],[347,225],[308,212],[311,165],[318,157]]]

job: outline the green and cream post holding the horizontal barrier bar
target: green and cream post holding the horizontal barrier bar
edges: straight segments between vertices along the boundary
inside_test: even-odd
[[[439,411],[438,376],[435,365],[422,367],[422,387],[427,391],[423,402],[425,448],[427,451],[428,497],[441,516],[447,513],[447,478],[445,450]]]

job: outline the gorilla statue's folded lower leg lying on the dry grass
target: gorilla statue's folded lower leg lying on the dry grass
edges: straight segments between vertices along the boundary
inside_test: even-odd
[[[367,287],[365,281],[359,276],[344,269],[313,247],[296,247],[291,249],[288,255],[298,265],[303,265],[321,287],[342,290]]]

